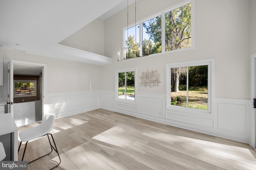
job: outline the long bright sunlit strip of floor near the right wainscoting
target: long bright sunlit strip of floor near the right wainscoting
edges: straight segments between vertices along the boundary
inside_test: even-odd
[[[236,162],[239,161],[239,162],[244,162],[244,165],[242,165],[244,166],[244,169],[249,169],[249,166],[250,168],[256,168],[256,158],[253,156],[253,154],[250,152],[249,149],[246,149],[243,147],[226,145],[222,143],[216,143],[216,142],[205,141],[200,139],[194,139],[192,137],[170,135],[170,134],[165,134],[165,133],[156,132],[156,131],[145,131],[143,132],[143,135],[154,138],[154,139],[160,139],[161,141],[169,143],[170,149],[175,150],[175,147],[171,146],[171,145],[174,145],[177,147],[182,147],[183,149],[186,149],[193,153],[196,153],[197,151],[199,151],[199,152],[203,152],[205,155],[210,154],[211,157],[214,157],[216,160],[219,160],[223,164],[225,164],[225,161],[232,161],[234,162],[234,166],[235,166]],[[166,145],[164,146],[168,147]],[[176,150],[180,151],[179,149],[176,149]],[[205,158],[205,159],[208,159],[208,158]],[[205,160],[205,161],[210,162],[211,160]]]

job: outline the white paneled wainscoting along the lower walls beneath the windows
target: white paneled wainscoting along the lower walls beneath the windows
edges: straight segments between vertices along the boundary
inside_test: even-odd
[[[48,94],[48,112],[57,118],[102,108],[192,131],[250,142],[250,100],[215,98],[214,113],[199,115],[166,109],[166,95],[138,93],[135,103],[115,100],[107,90]]]

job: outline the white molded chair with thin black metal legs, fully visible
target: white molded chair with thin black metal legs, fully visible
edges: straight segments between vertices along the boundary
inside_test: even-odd
[[[59,154],[58,149],[56,147],[56,143],[55,143],[55,141],[53,139],[52,134],[49,133],[52,130],[54,119],[55,119],[55,115],[53,115],[51,113],[47,113],[45,115],[45,117],[44,117],[43,122],[40,125],[38,125],[36,127],[32,127],[30,129],[27,129],[27,130],[24,130],[24,131],[19,133],[20,146],[21,146],[22,142],[26,142],[25,149],[24,149],[23,156],[22,156],[22,160],[24,159],[24,155],[25,155],[25,151],[26,151],[26,147],[27,147],[28,141],[30,141],[32,139],[36,139],[36,138],[42,137],[42,136],[46,136],[46,135],[48,137],[51,149],[54,149],[56,151],[56,153],[58,154],[59,159],[60,159],[60,154]],[[52,143],[50,141],[49,135],[52,137],[52,141],[54,143],[54,146],[52,146]],[[20,146],[19,146],[18,152],[20,150]],[[52,150],[51,150],[51,152],[52,152]],[[45,154],[44,156],[49,155],[50,153]],[[42,158],[44,156],[41,156],[40,158]],[[37,158],[35,160],[38,160],[40,158]],[[32,160],[32,161],[28,162],[28,164],[31,163],[31,162],[34,162],[35,160]],[[61,160],[60,160],[60,162],[61,162]],[[58,163],[53,168],[56,168],[59,164],[60,163]],[[52,170],[53,168],[51,168],[50,170]]]

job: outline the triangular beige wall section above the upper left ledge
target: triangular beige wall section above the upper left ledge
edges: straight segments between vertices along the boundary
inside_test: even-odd
[[[104,55],[104,21],[97,18],[62,40],[60,44]]]

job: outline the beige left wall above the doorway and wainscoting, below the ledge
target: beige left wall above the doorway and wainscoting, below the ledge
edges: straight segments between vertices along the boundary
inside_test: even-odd
[[[100,66],[22,53],[9,49],[4,49],[4,58],[47,64],[48,94],[100,90]]]

